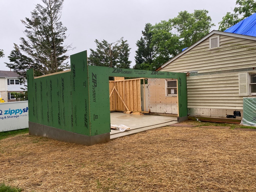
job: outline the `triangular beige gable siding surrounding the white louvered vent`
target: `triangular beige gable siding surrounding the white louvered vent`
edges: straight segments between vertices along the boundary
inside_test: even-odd
[[[215,35],[212,35],[213,37]],[[254,67],[256,41],[220,35],[220,48],[209,49],[209,38],[193,47],[161,71],[198,73]]]

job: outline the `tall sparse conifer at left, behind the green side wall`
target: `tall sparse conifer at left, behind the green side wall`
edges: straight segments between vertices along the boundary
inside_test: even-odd
[[[67,28],[62,26],[61,10],[64,0],[42,0],[31,12],[31,18],[21,20],[25,37],[8,56],[6,66],[26,78],[26,70],[35,69],[35,76],[55,73],[70,68],[66,54],[72,49],[64,44]]]

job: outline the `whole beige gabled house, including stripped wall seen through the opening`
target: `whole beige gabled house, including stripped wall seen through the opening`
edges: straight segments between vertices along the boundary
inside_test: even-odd
[[[187,73],[189,117],[239,121],[243,97],[256,96],[256,37],[211,31],[158,70]],[[151,112],[177,114],[176,80],[148,79],[148,87],[149,105],[159,93],[165,105]]]

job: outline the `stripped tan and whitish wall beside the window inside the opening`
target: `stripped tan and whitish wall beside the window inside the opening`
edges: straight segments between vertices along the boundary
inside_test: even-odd
[[[177,96],[166,96],[165,79],[148,79],[150,112],[178,114]]]

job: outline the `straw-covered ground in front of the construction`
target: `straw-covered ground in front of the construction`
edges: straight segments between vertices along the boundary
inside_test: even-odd
[[[83,146],[0,141],[0,183],[24,191],[256,191],[256,132],[162,127]]]

